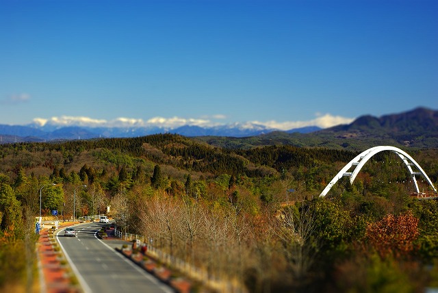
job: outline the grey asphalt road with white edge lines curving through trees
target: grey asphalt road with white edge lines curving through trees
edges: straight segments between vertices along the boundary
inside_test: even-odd
[[[84,293],[175,292],[115,251],[122,242],[97,238],[96,232],[103,225],[77,225],[77,237],[64,237],[64,229],[56,235]]]

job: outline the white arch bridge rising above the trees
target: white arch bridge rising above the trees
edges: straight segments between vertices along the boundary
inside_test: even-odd
[[[420,189],[418,188],[418,183],[417,183],[417,179],[415,178],[415,175],[422,175],[424,177],[424,179],[426,179],[427,183],[435,191],[435,196],[433,196],[433,197],[434,198],[438,197],[437,189],[435,188],[435,186],[433,186],[432,181],[430,181],[429,177],[424,172],[422,167],[417,162],[415,162],[415,160],[413,160],[413,158],[410,155],[408,155],[407,153],[405,153],[401,149],[398,149],[394,146],[374,146],[371,149],[363,151],[362,153],[357,155],[353,160],[351,160],[348,164],[346,164],[344,166],[344,168],[342,168],[337,173],[337,175],[335,175],[335,177],[333,177],[333,179],[331,179],[331,181],[326,186],[326,188],[324,188],[324,190],[322,190],[320,196],[326,196],[326,194],[329,193],[329,190],[331,190],[333,185],[335,185],[335,183],[339,179],[341,179],[342,177],[350,177],[350,183],[353,183],[353,181],[355,181],[355,178],[356,178],[357,174],[359,173],[359,171],[361,170],[361,168],[363,167],[363,165],[366,162],[368,162],[368,160],[370,160],[370,158],[373,155],[376,155],[376,153],[380,153],[381,151],[393,151],[402,159],[404,165],[407,167],[407,169],[409,171],[409,174],[411,176],[411,179],[413,181],[413,184],[415,186],[415,190],[417,191],[417,194],[421,194],[421,193],[420,193]],[[413,170],[412,167],[415,167],[416,169]],[[354,169],[351,172],[349,172],[349,170],[351,168],[354,168]]]

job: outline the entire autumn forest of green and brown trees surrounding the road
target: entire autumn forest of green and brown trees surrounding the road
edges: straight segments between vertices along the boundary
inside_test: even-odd
[[[362,151],[365,151],[362,150]],[[405,150],[438,186],[437,149]],[[319,194],[359,152],[227,149],[172,134],[0,145],[0,290],[38,274],[35,220],[103,214],[248,292],[438,287],[438,204],[395,153]],[[417,177],[420,190],[430,187]],[[55,185],[53,185],[55,184]]]

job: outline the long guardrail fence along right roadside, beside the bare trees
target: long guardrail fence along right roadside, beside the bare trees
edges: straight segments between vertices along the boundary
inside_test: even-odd
[[[243,290],[242,286],[236,280],[224,281],[223,279],[219,279],[218,277],[209,274],[205,268],[196,268],[188,262],[184,262],[182,259],[178,259],[173,255],[161,251],[160,249],[156,249],[151,244],[151,238],[146,238],[143,235],[124,233],[122,231],[118,231],[117,227],[114,229],[114,235],[123,240],[137,240],[138,245],[141,243],[146,243],[147,253],[155,257],[155,259],[159,259],[160,262],[166,264],[170,268],[175,268],[188,277],[196,281],[200,281],[209,286],[209,288],[212,288],[218,292],[245,292],[245,290]]]

